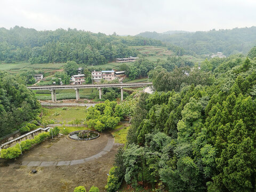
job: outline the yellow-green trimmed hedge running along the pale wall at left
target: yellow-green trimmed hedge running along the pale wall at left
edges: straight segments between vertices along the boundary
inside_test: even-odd
[[[59,129],[58,127],[54,127],[52,131],[49,132],[43,132],[39,133],[34,137],[34,139],[26,139],[25,141],[21,141],[20,144],[17,143],[13,147],[9,147],[7,149],[2,149],[1,150],[1,158],[4,159],[13,159],[17,158],[21,155],[21,151],[29,150],[33,145],[39,144],[42,141],[44,141],[47,137],[52,137],[59,134]],[[20,150],[21,148],[21,150]]]

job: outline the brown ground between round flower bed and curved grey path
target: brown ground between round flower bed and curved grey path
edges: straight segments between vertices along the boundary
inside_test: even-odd
[[[107,134],[91,141],[75,141],[62,135],[59,138],[49,139],[26,151],[17,161],[69,161],[90,157],[105,148],[108,142]]]

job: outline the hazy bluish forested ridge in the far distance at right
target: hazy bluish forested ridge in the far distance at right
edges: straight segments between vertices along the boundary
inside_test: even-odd
[[[170,34],[170,33],[169,33]],[[165,43],[181,46],[196,54],[223,52],[225,55],[244,53],[256,45],[256,27],[226,30],[196,31],[195,33],[174,34],[145,32],[137,36],[154,38]]]

